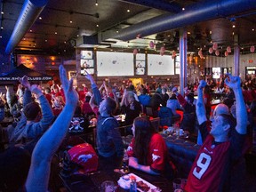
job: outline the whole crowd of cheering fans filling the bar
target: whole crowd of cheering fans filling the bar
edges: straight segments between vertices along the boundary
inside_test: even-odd
[[[163,119],[162,129],[173,124],[164,121],[166,117],[180,120],[177,109],[182,109],[180,128],[198,134],[197,143],[202,147],[188,175],[187,191],[235,191],[242,186],[239,183],[244,172],[239,172],[240,177],[231,176],[243,166],[244,154],[253,151],[256,92],[252,83],[242,84],[238,76],[231,75],[221,77],[218,84],[210,79],[198,80],[185,88],[183,96],[173,84],[158,84],[154,93],[148,84],[134,86],[132,82],[118,87],[104,81],[98,87],[93,76],[86,73],[83,89],[76,89],[63,66],[60,83],[44,88],[30,84],[24,76],[15,93],[8,86],[6,92],[1,92],[0,121],[6,116],[13,118],[7,128],[8,148],[0,153],[1,190],[51,190],[48,186],[53,155],[67,132],[86,132],[90,122],[96,124],[95,150],[99,158],[109,162],[122,158],[124,142],[115,117],[119,114],[124,114],[124,124],[132,127],[132,142],[127,148],[129,166],[153,175],[169,172],[173,179],[175,164],[168,156],[172,151],[168,151],[163,137],[146,116],[148,107],[153,111],[151,116]],[[214,111],[213,90],[225,93]],[[168,165],[172,169],[166,173]]]

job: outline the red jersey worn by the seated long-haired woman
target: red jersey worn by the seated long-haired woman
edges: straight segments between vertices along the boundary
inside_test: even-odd
[[[133,146],[134,138],[132,138],[132,142],[127,148],[128,156],[134,156]],[[155,133],[152,135],[148,150],[147,165],[150,165],[150,168],[156,170],[156,172],[163,172],[168,151],[165,141],[160,134]]]

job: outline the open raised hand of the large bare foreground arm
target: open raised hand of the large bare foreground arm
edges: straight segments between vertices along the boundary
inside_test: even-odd
[[[60,65],[60,81],[66,98],[66,104],[77,105],[78,94],[73,89],[73,79],[68,81],[65,68]]]

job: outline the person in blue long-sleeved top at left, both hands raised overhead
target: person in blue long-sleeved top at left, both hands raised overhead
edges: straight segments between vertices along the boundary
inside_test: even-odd
[[[37,140],[50,127],[54,119],[52,108],[44,97],[37,84],[30,85],[28,76],[20,79],[20,84],[25,87],[23,98],[23,111],[20,122],[16,125],[11,136],[11,146],[22,146],[32,154]],[[32,93],[36,95],[36,101],[32,101]]]

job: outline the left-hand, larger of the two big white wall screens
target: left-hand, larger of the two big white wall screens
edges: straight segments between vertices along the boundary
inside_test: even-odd
[[[97,52],[98,76],[133,76],[133,53]]]

